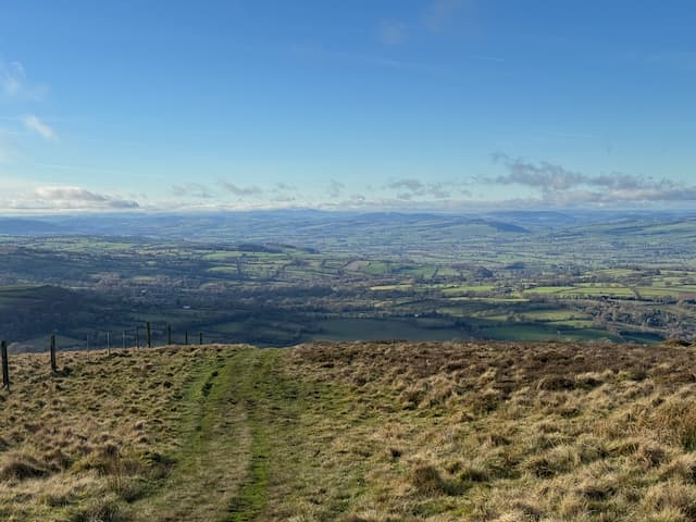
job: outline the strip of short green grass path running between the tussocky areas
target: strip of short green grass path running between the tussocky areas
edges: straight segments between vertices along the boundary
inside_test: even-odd
[[[287,356],[241,349],[199,374],[184,398],[186,443],[161,490],[134,506],[138,522],[266,522],[297,513],[330,521],[345,513],[362,473],[350,455],[330,457],[335,433],[327,420],[346,398],[289,373]]]

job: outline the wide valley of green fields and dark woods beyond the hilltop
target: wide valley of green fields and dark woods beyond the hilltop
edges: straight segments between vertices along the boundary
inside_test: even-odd
[[[195,243],[176,231],[159,239],[4,236],[0,336],[16,350],[41,351],[51,333],[65,347],[85,347],[88,337],[105,347],[108,335],[124,332],[135,344],[149,321],[154,343],[167,326],[176,339],[202,332],[207,340],[261,346],[291,346],[322,331],[425,339],[463,327],[508,338],[471,327],[488,318],[529,324],[529,338],[558,330],[573,338],[593,330],[696,338],[691,220],[550,231],[443,215],[237,217],[222,228],[206,221]],[[196,217],[176,223],[190,232]],[[426,325],[426,316],[457,324],[455,332]],[[350,327],[322,326],[356,318]]]

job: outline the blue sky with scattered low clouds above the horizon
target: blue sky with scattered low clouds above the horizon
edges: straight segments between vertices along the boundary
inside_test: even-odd
[[[0,213],[691,208],[692,0],[3,0]]]

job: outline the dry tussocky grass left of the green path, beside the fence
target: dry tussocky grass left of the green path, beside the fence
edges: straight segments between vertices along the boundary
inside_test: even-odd
[[[181,449],[183,394],[215,349],[11,357],[0,391],[0,520],[128,520]]]

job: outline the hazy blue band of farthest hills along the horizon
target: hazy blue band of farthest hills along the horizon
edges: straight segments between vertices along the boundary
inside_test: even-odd
[[[166,214],[80,214],[37,217],[0,217],[0,235],[63,236],[109,235],[146,236],[172,239],[283,237],[331,233],[356,235],[373,228],[450,231],[457,236],[526,234],[547,229],[611,224],[634,229],[658,224],[696,220],[694,213],[618,211],[501,211],[480,214],[325,212],[311,209],[249,212],[166,213]]]

